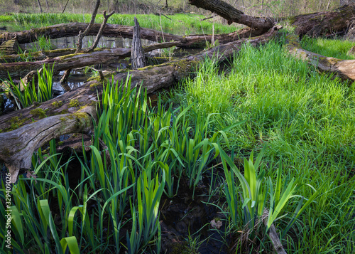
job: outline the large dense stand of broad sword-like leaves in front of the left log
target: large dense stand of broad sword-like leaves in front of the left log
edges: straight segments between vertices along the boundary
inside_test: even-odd
[[[162,196],[175,196],[182,176],[194,188],[226,134],[207,131],[208,117],[190,127],[190,107],[148,103],[146,91],[131,88],[130,78],[107,82],[90,152],[83,145],[81,156],[62,159],[53,140],[48,154],[39,149],[33,155],[37,182],[21,176],[11,190],[16,253],[160,252]],[[77,182],[69,176],[71,163],[80,171]],[[0,210],[5,213],[2,203]]]

